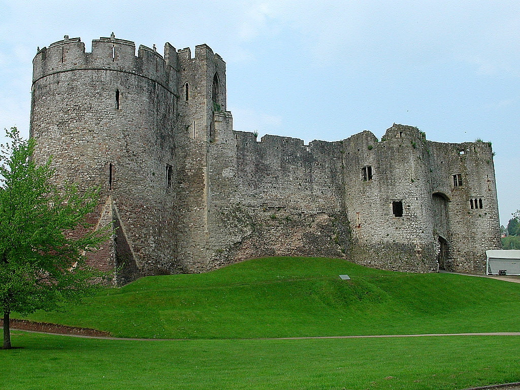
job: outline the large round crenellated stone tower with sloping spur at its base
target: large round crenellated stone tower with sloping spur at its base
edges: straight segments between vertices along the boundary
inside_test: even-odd
[[[35,158],[53,157],[59,183],[99,186],[94,220],[104,215],[118,228],[115,254],[91,261],[137,275],[170,271],[176,192],[166,166],[175,165],[176,72],[154,50],[141,46],[135,56],[132,42],[114,37],[93,41],[92,53],[66,37],[33,64]]]

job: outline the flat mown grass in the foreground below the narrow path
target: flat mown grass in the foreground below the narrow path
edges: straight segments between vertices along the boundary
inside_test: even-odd
[[[447,390],[520,379],[520,337],[110,341],[14,332],[0,388]]]

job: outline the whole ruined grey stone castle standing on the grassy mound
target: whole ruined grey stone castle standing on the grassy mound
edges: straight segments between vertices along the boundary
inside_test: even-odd
[[[500,248],[490,144],[398,124],[381,140],[258,141],[232,129],[226,64],[206,45],[38,49],[30,136],[59,182],[101,187],[90,220],[116,229],[88,261],[120,284],[268,255],[482,274]]]

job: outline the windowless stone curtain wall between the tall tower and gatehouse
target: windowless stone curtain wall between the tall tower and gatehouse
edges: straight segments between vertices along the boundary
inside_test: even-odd
[[[219,115],[222,116],[222,115]],[[339,144],[230,132],[210,144],[212,264],[267,255],[345,257]]]

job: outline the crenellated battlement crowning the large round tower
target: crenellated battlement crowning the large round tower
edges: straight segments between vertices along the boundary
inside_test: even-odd
[[[66,35],[63,40],[38,50],[33,59],[33,82],[60,72],[111,70],[141,75],[175,90],[177,63],[176,50],[170,44],[164,47],[164,57],[155,45],[153,48],[140,45],[136,56],[134,42],[115,38],[112,34],[93,40],[89,53],[81,38]]]

